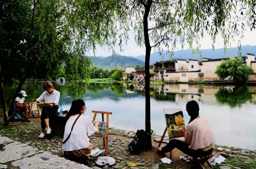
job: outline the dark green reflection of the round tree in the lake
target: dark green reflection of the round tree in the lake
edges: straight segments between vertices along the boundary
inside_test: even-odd
[[[248,91],[247,86],[234,87],[233,89],[220,88],[216,94],[217,102],[228,104],[230,107],[241,106],[247,101],[253,100],[253,94]]]

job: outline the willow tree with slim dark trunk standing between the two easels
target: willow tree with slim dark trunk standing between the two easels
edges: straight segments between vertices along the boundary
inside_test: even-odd
[[[138,46],[145,47],[145,130],[150,133],[150,54],[152,49],[159,51],[168,50],[170,57],[176,44],[184,47],[185,44],[193,49],[193,53],[200,52],[200,38],[209,34],[212,38],[212,47],[218,34],[224,39],[224,47],[230,44],[230,40],[243,37],[244,23],[239,23],[243,15],[241,9],[239,15],[236,7],[248,5],[250,0],[109,0],[122,4],[122,15],[116,15],[117,28],[123,28],[119,35],[126,39],[127,31],[133,30]],[[255,6],[255,3],[251,3]],[[244,13],[246,13],[244,11]],[[250,11],[249,11],[250,13]],[[125,16],[125,17],[124,17]],[[255,16],[255,13],[254,15]],[[239,41],[240,42],[240,41]],[[163,49],[164,48],[164,49]],[[151,142],[151,140],[148,140]]]

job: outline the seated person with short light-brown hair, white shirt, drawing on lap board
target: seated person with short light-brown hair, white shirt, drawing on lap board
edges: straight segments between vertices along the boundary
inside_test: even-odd
[[[46,134],[50,134],[52,129],[49,126],[49,116],[53,116],[54,113],[58,112],[59,108],[59,97],[60,92],[55,90],[53,88],[53,84],[49,81],[44,82],[43,89],[45,90],[42,95],[37,99],[38,103],[45,103],[45,104],[51,104],[51,108],[42,108],[42,115],[41,115],[41,133],[38,138],[44,138],[45,137],[45,128]],[[44,100],[44,102],[43,102]],[[50,119],[51,120],[51,119]]]

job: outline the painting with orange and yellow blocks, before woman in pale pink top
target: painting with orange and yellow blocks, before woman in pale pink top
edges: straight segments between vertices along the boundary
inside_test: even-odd
[[[184,116],[181,108],[165,108],[167,132],[169,137],[183,137],[185,134],[179,131],[186,130]]]

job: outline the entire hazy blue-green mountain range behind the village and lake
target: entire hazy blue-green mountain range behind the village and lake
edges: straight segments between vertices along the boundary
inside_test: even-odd
[[[202,57],[207,57],[207,58],[226,58],[230,56],[238,57],[238,48],[227,48],[226,52],[224,53],[224,48],[220,49],[201,49],[202,52]],[[241,52],[242,56],[246,56],[247,53],[251,54],[256,54],[256,46],[250,46],[250,45],[245,45],[241,46]],[[200,60],[200,54],[196,53],[193,55],[191,49],[185,49],[185,50],[177,50],[174,51],[172,59],[196,59]],[[127,66],[136,66],[136,65],[141,65],[144,66],[145,63],[145,55],[139,55],[139,56],[121,56],[119,54],[115,54],[115,56],[108,56],[108,57],[103,57],[103,56],[89,56],[91,61],[93,62],[93,65],[98,67],[98,68],[103,68],[103,69],[114,69],[114,68],[122,68],[124,69]],[[155,62],[159,61],[167,61],[170,60],[170,55],[168,54],[167,51],[162,51],[162,56],[159,55],[158,52],[151,53],[150,55],[150,64],[152,65]]]

